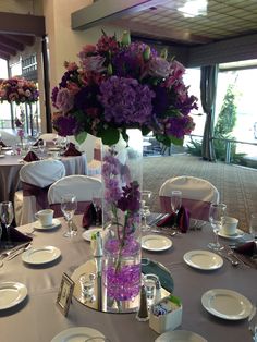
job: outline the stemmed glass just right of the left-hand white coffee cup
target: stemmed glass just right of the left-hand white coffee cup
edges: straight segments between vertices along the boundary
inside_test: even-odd
[[[77,234],[77,230],[75,230],[75,227],[72,222],[76,209],[77,201],[74,194],[65,194],[61,197],[61,210],[64,219],[68,221],[68,231],[63,234],[65,237],[72,237]]]

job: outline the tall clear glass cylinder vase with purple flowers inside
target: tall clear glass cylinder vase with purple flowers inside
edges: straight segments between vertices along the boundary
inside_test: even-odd
[[[140,191],[143,138],[139,130],[127,130],[102,147],[103,258],[102,291],[109,312],[135,312],[140,291]]]

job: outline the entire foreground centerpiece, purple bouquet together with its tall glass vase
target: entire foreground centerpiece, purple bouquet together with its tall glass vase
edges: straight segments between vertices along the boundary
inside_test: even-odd
[[[197,99],[183,83],[184,66],[166,54],[131,42],[127,33],[121,41],[103,34],[78,53],[79,65],[65,62],[52,90],[59,135],[81,143],[89,133],[106,146],[102,281],[107,305],[118,312],[135,310],[140,291],[142,134],[170,146],[194,129],[188,114]]]

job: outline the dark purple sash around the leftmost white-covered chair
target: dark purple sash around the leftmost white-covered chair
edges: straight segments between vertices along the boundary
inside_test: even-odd
[[[51,185],[51,184],[50,184]],[[22,182],[23,196],[35,196],[37,210],[42,210],[49,207],[47,193],[50,185],[39,187],[29,183]]]

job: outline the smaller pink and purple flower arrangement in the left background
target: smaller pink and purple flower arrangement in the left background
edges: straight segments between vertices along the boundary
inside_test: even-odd
[[[23,77],[12,77],[0,82],[1,102],[33,103],[38,100],[37,86],[33,81]]]

